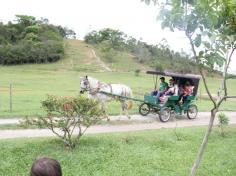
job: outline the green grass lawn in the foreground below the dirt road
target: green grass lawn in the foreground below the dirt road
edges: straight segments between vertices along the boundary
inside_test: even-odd
[[[34,159],[50,156],[63,175],[176,176],[188,175],[205,128],[85,135],[74,150],[56,138],[0,140],[0,175],[24,176]],[[215,128],[197,175],[236,175],[236,126],[222,138]]]

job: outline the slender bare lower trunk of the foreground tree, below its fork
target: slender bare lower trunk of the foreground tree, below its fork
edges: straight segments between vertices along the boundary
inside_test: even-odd
[[[189,176],[195,176],[196,175],[197,169],[198,169],[199,164],[200,164],[200,162],[202,160],[203,153],[204,153],[206,145],[208,143],[209,136],[211,134],[211,130],[212,130],[212,127],[213,127],[213,124],[214,124],[214,119],[215,119],[215,116],[216,116],[216,113],[217,113],[217,109],[218,108],[216,107],[216,108],[213,108],[211,110],[210,122],[209,122],[207,131],[205,133],[204,139],[202,141],[201,147],[199,148],[196,160],[195,160],[195,162],[194,162],[194,164],[192,166],[192,170],[191,170],[191,173],[189,174]]]

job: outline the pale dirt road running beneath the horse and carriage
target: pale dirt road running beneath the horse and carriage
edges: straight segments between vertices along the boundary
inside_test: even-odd
[[[230,124],[236,124],[236,112],[225,112],[225,114],[230,119]],[[124,132],[124,131],[141,131],[150,129],[160,129],[160,128],[175,128],[175,127],[191,127],[191,126],[204,126],[209,122],[210,113],[201,112],[198,117],[194,120],[189,120],[186,117],[173,118],[167,123],[162,123],[155,118],[154,115],[149,115],[147,117],[142,117],[140,115],[133,115],[131,120],[127,117],[111,117],[111,122],[105,125],[95,125],[90,127],[86,134],[94,133],[111,133],[111,132]],[[5,119],[6,120],[6,119]],[[8,119],[12,120],[13,119]],[[15,120],[15,122],[17,122]],[[6,123],[6,121],[5,121]],[[1,120],[0,120],[1,124]],[[3,124],[3,123],[2,123]],[[215,125],[217,124],[217,119],[215,120]],[[48,137],[54,136],[54,134],[47,129],[26,129],[26,130],[0,130],[0,139],[9,138],[28,138],[28,137]]]

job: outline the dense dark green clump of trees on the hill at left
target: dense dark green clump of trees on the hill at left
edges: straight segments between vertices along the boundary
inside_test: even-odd
[[[64,53],[63,38],[75,32],[49,24],[47,19],[16,15],[16,21],[0,23],[0,64],[47,63]]]

